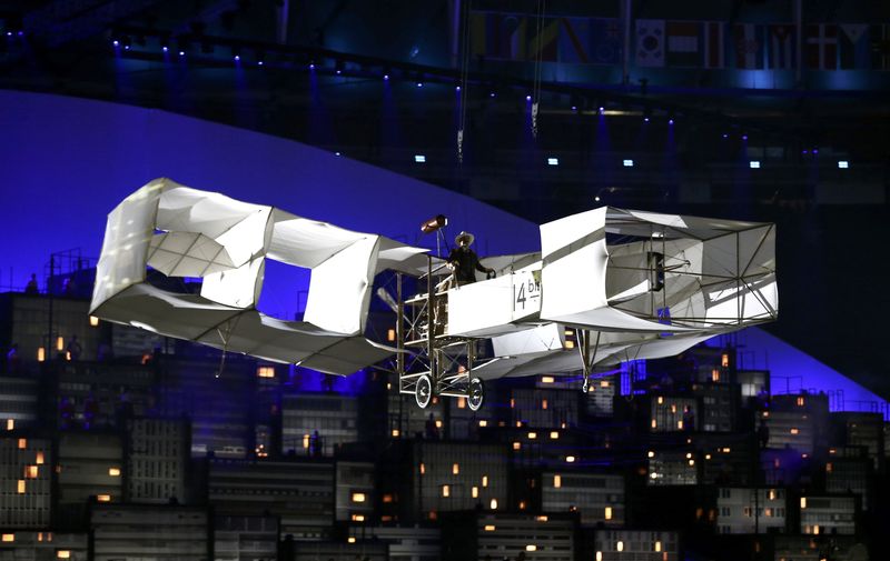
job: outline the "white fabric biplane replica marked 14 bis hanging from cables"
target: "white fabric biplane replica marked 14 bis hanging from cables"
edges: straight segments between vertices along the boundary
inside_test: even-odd
[[[257,308],[269,259],[312,270],[301,321]],[[542,224],[540,251],[482,262],[494,278],[455,285],[425,248],[158,179],[108,216],[90,313],[328,374],[395,357],[419,407],[445,395],[473,410],[485,380],[581,372],[586,391],[597,369],[778,317],[770,223],[602,207]],[[386,270],[394,285],[376,294],[394,342],[366,330]],[[199,278],[200,291],[149,271]]]

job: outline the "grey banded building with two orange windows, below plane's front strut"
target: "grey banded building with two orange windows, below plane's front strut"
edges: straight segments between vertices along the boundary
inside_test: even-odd
[[[541,474],[541,508],[544,512],[577,511],[584,525],[624,524],[622,475],[545,471]]]

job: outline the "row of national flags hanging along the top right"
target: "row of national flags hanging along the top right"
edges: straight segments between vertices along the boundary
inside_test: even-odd
[[[493,60],[619,64],[624,28],[615,18],[471,13],[471,50]],[[639,19],[631,62],[706,69],[890,70],[890,23],[728,23]],[[800,41],[798,33],[801,33]]]

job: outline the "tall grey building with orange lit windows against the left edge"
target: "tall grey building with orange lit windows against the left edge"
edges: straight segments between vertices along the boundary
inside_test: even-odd
[[[0,528],[50,523],[50,442],[7,433],[0,438]]]

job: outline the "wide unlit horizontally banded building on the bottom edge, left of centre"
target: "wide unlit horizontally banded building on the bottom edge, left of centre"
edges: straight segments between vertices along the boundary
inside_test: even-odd
[[[210,535],[202,508],[93,504],[89,517],[92,559],[206,560]]]

